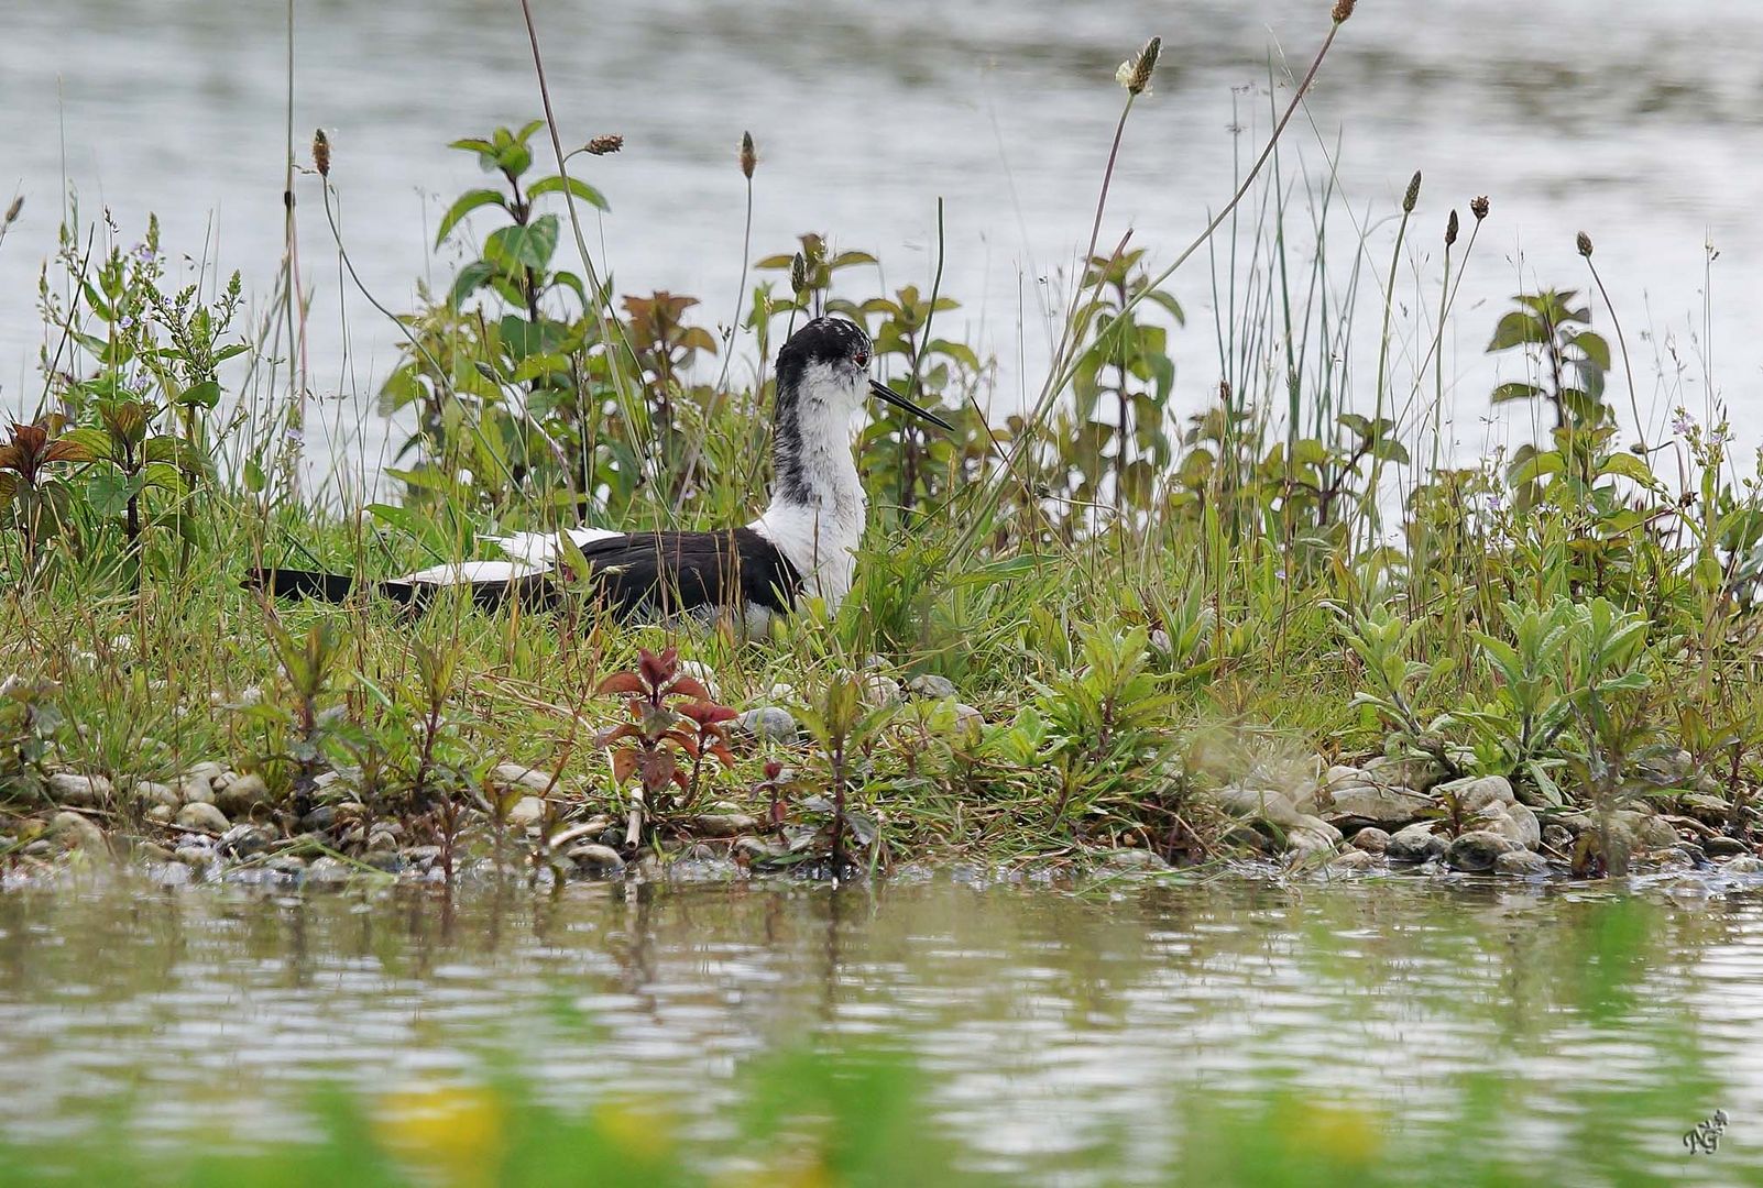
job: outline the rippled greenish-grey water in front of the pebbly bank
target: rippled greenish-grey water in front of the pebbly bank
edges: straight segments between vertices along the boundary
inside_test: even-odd
[[[562,1103],[677,1100],[714,1151],[742,1061],[876,1035],[1019,1183],[1148,1181],[1201,1096],[1285,1084],[1425,1133],[1465,1125],[1486,1075],[1486,1142],[1596,1153],[1562,1183],[1749,1183],[1759,984],[1763,899],[1737,892],[23,892],[0,897],[0,1140],[72,1142],[125,1093],[145,1139],[286,1139],[317,1082],[374,1095],[513,1063]],[[1721,1153],[1687,1156],[1715,1109]]]

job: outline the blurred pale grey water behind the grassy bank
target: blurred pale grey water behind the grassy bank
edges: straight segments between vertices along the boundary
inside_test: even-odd
[[[1128,226],[1167,259],[1232,189],[1232,155],[1266,132],[1268,55],[1308,62],[1328,0],[658,0],[534,4],[569,141],[617,130],[621,157],[589,176],[614,213],[589,233],[621,291],[700,294],[726,319],[739,273],[742,183],[733,150],[758,137],[755,243],[786,250],[827,231],[880,254],[889,286],[927,284],[936,199],[947,199],[945,291],[963,330],[1005,361],[1001,402],[1038,381],[1044,308],[1088,238],[1123,92],[1114,65],[1165,39],[1155,95],[1128,130],[1104,243]],[[159,212],[169,245],[240,268],[268,298],[282,241],[286,42],[282,5],[220,0],[56,0],[7,5],[0,35],[0,190],[26,194],[0,247],[0,398],[35,404],[35,277],[53,249],[63,185],[85,215],[113,212],[134,241]],[[439,196],[478,178],[455,136],[538,111],[518,5],[510,0],[296,0],[294,127],[335,139],[344,234],[367,286],[404,307],[432,259]],[[1245,90],[1239,90],[1245,88]],[[1245,129],[1234,139],[1229,127]],[[1313,176],[1340,137],[1340,182],[1387,213],[1426,171],[1416,241],[1433,256],[1451,204],[1491,194],[1465,278],[1447,368],[1456,444],[1486,427],[1481,345],[1520,286],[1583,286],[1573,236],[1590,231],[1641,372],[1652,423],[1710,393],[1745,439],[1763,365],[1763,5],[1752,0],[1365,0],[1289,141]],[[580,159],[578,159],[580,160]],[[384,428],[356,416],[393,360],[393,331],[340,284],[310,180],[300,234],[312,284],[312,368],[344,437],[319,442],[368,465]],[[1467,210],[1465,210],[1467,213]],[[1372,236],[1382,259],[1391,229]],[[1712,243],[1712,294],[1705,263]],[[1423,261],[1421,268],[1435,261]],[[1379,270],[1384,268],[1379,263]],[[1412,298],[1412,282],[1410,298]],[[1220,374],[1199,257],[1174,282],[1179,400]],[[1419,308],[1433,298],[1423,291]],[[1710,300],[1705,303],[1705,296]],[[1403,303],[1403,316],[1412,312]],[[1707,308],[1705,308],[1707,305]],[[1603,317],[1603,316],[1601,316]],[[1402,317],[1398,317],[1398,324]],[[1398,374],[1425,331],[1403,330]],[[1421,342],[1421,349],[1416,349]],[[1407,368],[1407,370],[1403,370]],[[1365,370],[1365,368],[1361,368]],[[1710,381],[1712,377],[1712,381]]]

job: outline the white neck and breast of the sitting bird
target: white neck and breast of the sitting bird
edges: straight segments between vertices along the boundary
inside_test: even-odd
[[[809,367],[777,393],[772,499],[751,523],[802,575],[802,592],[837,610],[852,589],[867,501],[852,457],[850,381]]]

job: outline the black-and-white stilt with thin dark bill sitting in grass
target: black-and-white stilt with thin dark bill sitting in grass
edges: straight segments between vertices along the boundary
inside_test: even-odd
[[[716,532],[615,532],[571,529],[587,562],[585,587],[624,619],[710,620],[730,615],[763,633],[772,615],[799,598],[829,610],[852,589],[867,499],[852,457],[852,418],[864,397],[880,397],[943,428],[948,421],[869,377],[869,335],[841,317],[816,317],[777,353],[774,486],[765,513],[746,527]],[[467,561],[374,582],[379,594],[425,603],[465,587],[480,605],[518,599],[554,606],[566,550],[557,536],[518,532],[487,538],[506,561]],[[279,569],[259,575],[275,594],[342,601],[351,578]]]

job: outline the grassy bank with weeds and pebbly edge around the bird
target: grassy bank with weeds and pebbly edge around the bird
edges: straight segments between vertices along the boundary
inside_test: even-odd
[[[1109,169],[1155,56],[1121,72]],[[606,204],[591,178],[617,137],[566,157],[547,136],[457,145],[487,182],[439,238],[474,254],[446,293],[388,310],[405,351],[377,400],[409,441],[398,495],[365,506],[347,471],[314,490],[301,467],[331,398],[367,393],[309,372],[293,247],[252,321],[236,284],[185,284],[157,231],[69,212],[35,425],[0,451],[9,864],[74,844],[451,878],[696,843],[816,871],[1116,850],[1580,874],[1638,851],[1756,860],[1758,483],[1717,414],[1647,437],[1617,312],[1573,291],[1603,293],[1588,238],[1585,277],[1477,324],[1454,286],[1486,199],[1423,203],[1416,174],[1373,259],[1331,174],[1283,173],[1275,141],[1211,227],[1229,220],[1229,252],[1202,330],[1171,278],[1224,241],[1167,266],[1098,250],[1104,178],[1051,367],[1021,412],[987,418],[996,367],[943,330],[957,300],[934,278],[878,291],[871,256],[820,236],[732,249],[755,280],[726,321],[614,293],[578,212]],[[760,194],[751,145],[739,166]],[[323,137],[300,187],[330,212]],[[330,247],[347,270],[347,238]],[[240,587],[257,566],[485,555],[490,532],[744,522],[767,360],[822,312],[862,321],[882,374],[957,425],[862,432],[876,509],[837,615],[739,640],[585,603],[413,619]],[[1525,379],[1454,409],[1458,331]],[[1176,333],[1216,337],[1215,375],[1178,384]],[[1179,416],[1197,390],[1216,397]],[[1536,439],[1463,467],[1447,427],[1490,402],[1529,409]]]

